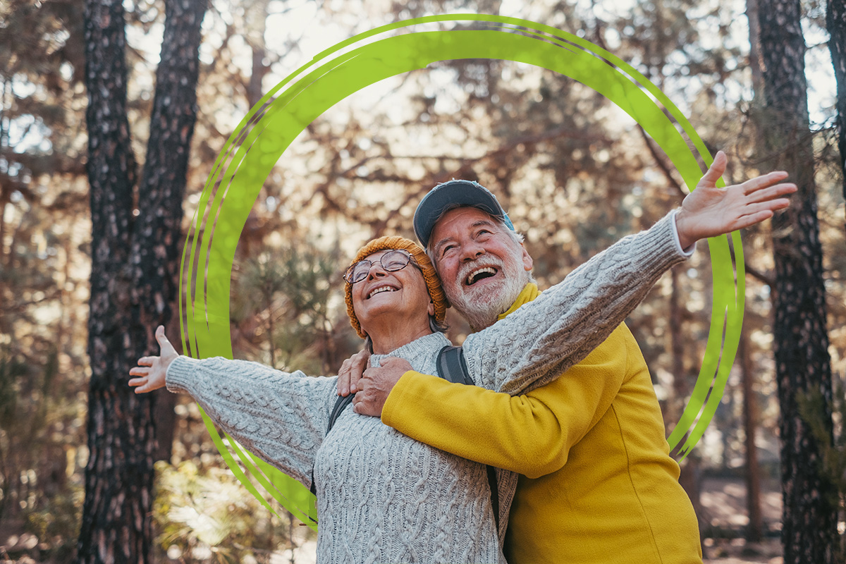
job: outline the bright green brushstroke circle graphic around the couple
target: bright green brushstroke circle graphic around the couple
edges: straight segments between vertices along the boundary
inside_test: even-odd
[[[438,22],[476,22],[474,29],[431,30]],[[430,63],[489,58],[528,63],[564,74],[606,96],[662,147],[688,186],[711,164],[699,135],[661,90],[628,63],[590,41],[525,19],[453,14],[409,19],[354,36],[319,53],[253,107],[217,157],[201,194],[183,253],[179,302],[182,336],[195,358],[232,358],[229,281],[235,248],[262,184],[288,145],[346,96]],[[691,149],[692,145],[694,149]],[[225,202],[225,205],[224,205]],[[733,253],[729,250],[729,238]],[[713,271],[711,326],[699,377],[667,441],[682,457],[699,441],[725,389],[737,352],[744,308],[743,249],[739,233],[708,241]],[[312,527],[314,496],[234,441],[206,426],[233,473],[268,509],[233,452],[262,488]],[[312,517],[312,518],[310,518]]]

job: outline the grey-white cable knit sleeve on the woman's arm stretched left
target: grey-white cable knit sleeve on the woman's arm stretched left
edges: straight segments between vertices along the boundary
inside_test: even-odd
[[[190,394],[222,430],[306,486],[326,435],[336,381],[244,360],[184,356],[167,375],[168,390]]]

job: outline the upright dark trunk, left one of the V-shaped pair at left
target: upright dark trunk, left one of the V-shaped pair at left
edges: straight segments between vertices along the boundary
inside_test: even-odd
[[[88,180],[91,186],[91,312],[88,464],[79,561],[148,561],[151,402],[129,393],[129,229],[135,157],[126,113],[124,8],[85,3]],[[121,385],[123,384],[123,386]]]

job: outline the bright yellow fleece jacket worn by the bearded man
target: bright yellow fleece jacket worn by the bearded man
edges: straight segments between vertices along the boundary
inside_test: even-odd
[[[500,316],[535,299],[535,284]],[[519,474],[511,564],[689,564],[702,554],[643,354],[618,326],[525,396],[406,372],[382,421],[417,441]]]

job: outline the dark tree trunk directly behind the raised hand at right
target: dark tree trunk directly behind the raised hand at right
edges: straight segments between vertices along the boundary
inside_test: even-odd
[[[788,171],[799,186],[790,209],[773,218],[782,541],[785,564],[830,564],[837,538],[832,485],[821,474],[821,447],[797,407],[797,397],[821,393],[821,417],[831,435],[832,373],[800,15],[798,0],[760,0],[767,164]]]

